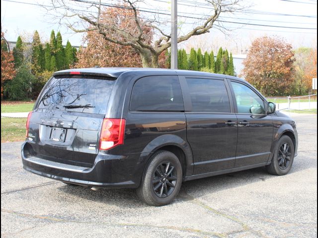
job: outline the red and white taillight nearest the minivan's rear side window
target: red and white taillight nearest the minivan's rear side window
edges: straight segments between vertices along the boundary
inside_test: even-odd
[[[109,150],[117,145],[124,144],[125,119],[104,118],[101,127],[99,149]]]

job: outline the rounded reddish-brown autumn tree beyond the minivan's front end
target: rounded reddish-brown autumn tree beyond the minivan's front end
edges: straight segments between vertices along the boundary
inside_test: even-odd
[[[278,37],[254,40],[243,61],[242,75],[267,96],[287,95],[293,79],[292,46]]]

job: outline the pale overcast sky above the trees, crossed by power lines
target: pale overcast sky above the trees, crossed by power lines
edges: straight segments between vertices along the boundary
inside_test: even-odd
[[[33,3],[35,5],[20,2]],[[103,0],[103,2],[118,4],[118,1],[111,0]],[[202,17],[202,14],[208,12],[202,5],[204,0],[180,0],[178,2],[180,3],[178,5],[180,15],[196,16],[197,14],[197,16]],[[197,3],[198,7],[189,6],[195,4],[194,2]],[[144,7],[142,9],[159,9],[159,12],[165,13],[170,9],[170,3],[167,0],[146,0],[146,3],[141,5],[141,7]],[[1,25],[7,40],[15,41],[20,34],[31,36],[34,30],[38,30],[40,37],[46,41],[50,37],[51,30],[54,29],[56,32],[61,31],[64,44],[66,44],[67,40],[74,46],[81,44],[82,34],[74,34],[65,26],[60,26],[57,20],[52,21],[46,15],[46,10],[37,4],[51,5],[51,1],[1,0]],[[181,44],[180,47],[188,49],[199,46],[210,50],[222,46],[238,54],[243,52],[253,39],[265,34],[284,37],[294,48],[317,46],[317,0],[244,0],[243,4],[245,6],[251,5],[248,10],[255,13],[224,14],[223,18],[220,18],[225,21],[237,22],[223,23],[232,32],[224,35],[219,30],[212,29],[210,33],[189,40]],[[179,17],[179,21],[185,22],[181,27],[180,34],[182,34],[193,26],[195,20]],[[238,23],[281,27],[242,25]],[[296,27],[314,29],[296,29]]]

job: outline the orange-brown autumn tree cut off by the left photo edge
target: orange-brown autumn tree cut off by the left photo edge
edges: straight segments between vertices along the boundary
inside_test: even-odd
[[[15,76],[13,61],[13,55],[9,51],[7,41],[4,38],[4,33],[1,31],[1,97],[4,82],[11,80]]]

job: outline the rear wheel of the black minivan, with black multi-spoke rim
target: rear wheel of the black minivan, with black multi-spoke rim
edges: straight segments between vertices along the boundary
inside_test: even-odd
[[[137,194],[152,206],[169,204],[178,194],[182,182],[182,167],[175,154],[158,151],[146,167]]]

